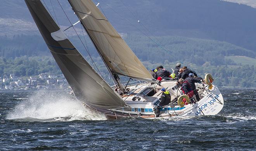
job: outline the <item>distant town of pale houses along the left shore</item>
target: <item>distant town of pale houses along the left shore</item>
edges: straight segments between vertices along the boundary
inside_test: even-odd
[[[66,89],[69,87],[63,74],[41,73],[37,76],[16,77],[14,74],[0,77],[0,90]]]

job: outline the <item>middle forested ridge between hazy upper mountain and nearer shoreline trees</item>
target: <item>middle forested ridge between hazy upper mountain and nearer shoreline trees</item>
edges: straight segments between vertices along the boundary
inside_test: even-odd
[[[123,38],[140,60],[151,63],[164,63],[165,60],[168,60],[169,62],[194,63],[195,65],[203,65],[206,62],[211,65],[236,65],[240,62],[236,62],[230,56],[245,56],[250,57],[251,60],[256,57],[254,51],[216,40],[180,36],[151,37],[166,48],[163,50],[146,36],[126,34]],[[70,39],[85,57],[88,56],[77,37],[71,36]],[[88,37],[86,44],[90,54],[93,57],[99,57]],[[21,35],[13,38],[0,38],[0,57],[15,58],[23,55],[28,57],[48,56],[50,52],[41,36]]]

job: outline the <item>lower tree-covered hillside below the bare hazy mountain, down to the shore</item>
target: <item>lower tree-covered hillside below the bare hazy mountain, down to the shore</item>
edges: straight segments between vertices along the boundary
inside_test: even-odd
[[[53,57],[45,44],[41,43],[43,39],[40,36],[24,37],[26,38],[22,39],[22,41],[0,49],[0,75],[29,76],[45,72],[60,74],[61,71]],[[3,39],[0,44],[12,43],[17,38],[19,36]],[[174,68],[177,62],[182,62],[182,65],[187,65],[202,77],[205,73],[213,74],[218,86],[253,87],[256,84],[256,77],[254,76],[256,75],[256,55],[251,50],[246,50],[230,43],[207,39],[177,36],[152,38],[159,41],[166,50],[161,49],[145,36],[126,35],[124,37],[147,69],[164,65],[166,69],[171,71],[171,68]],[[92,60],[86,53],[85,48],[81,46],[81,42],[76,38],[71,39],[92,65]],[[101,74],[104,79],[111,83],[106,66],[89,39],[86,39],[86,41],[90,54],[94,62],[97,62],[97,67]],[[244,57],[239,57],[241,55]],[[241,72],[243,73],[242,78],[240,77]]]

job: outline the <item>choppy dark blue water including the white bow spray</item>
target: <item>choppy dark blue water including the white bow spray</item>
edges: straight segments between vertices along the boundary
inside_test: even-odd
[[[107,120],[64,93],[0,91],[0,150],[256,150],[256,89],[222,89],[223,110]]]

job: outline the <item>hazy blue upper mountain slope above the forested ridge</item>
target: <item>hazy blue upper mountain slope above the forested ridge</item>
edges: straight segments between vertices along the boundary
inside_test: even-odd
[[[56,14],[61,26],[69,26],[57,1],[43,2],[54,18]],[[76,22],[77,17],[69,3],[60,2],[69,19]],[[140,31],[147,31],[144,28],[147,27],[150,33],[157,36],[214,39],[256,50],[256,9],[247,5],[220,0],[102,0],[100,6],[119,33],[142,34]],[[24,1],[3,0],[0,14],[0,25],[4,27],[0,29],[2,35],[8,36],[11,31],[29,34],[23,24],[29,25],[29,30],[33,31],[31,33],[38,34],[36,26],[30,26],[31,22],[34,23]],[[140,24],[137,20],[140,20]],[[76,27],[80,29],[80,26]]]

